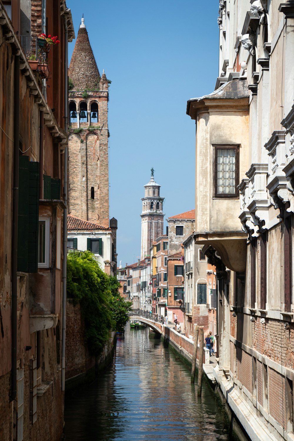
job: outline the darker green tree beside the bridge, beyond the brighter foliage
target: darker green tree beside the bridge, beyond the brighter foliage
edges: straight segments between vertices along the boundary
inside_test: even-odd
[[[112,293],[111,310],[115,321],[115,330],[121,332],[129,320],[128,312],[132,309],[132,302],[123,299],[119,294],[119,281],[116,277],[109,277],[109,288]]]

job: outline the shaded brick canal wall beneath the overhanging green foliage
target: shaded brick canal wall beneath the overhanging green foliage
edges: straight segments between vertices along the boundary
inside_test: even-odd
[[[92,381],[97,371],[104,370],[111,362],[115,345],[115,333],[112,332],[109,342],[99,357],[89,353],[86,343],[85,323],[81,307],[67,301],[67,329],[65,345],[65,387],[74,389],[79,384]]]

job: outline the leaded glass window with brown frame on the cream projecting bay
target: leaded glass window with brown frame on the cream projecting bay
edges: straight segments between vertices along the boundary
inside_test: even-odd
[[[238,185],[238,149],[216,148],[216,196],[236,196]]]

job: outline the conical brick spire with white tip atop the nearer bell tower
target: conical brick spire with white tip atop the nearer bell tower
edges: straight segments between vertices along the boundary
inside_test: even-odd
[[[74,90],[99,89],[100,74],[83,18],[69,65],[69,77]]]

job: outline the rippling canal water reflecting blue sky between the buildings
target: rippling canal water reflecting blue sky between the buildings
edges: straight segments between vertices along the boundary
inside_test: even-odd
[[[66,441],[229,440],[205,382],[202,397],[190,369],[149,329],[126,326],[113,364],[65,402]]]

